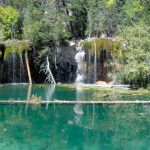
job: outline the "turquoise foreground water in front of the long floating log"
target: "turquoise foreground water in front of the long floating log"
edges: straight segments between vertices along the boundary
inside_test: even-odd
[[[147,149],[149,105],[0,105],[0,149]],[[94,111],[94,112],[93,112]],[[26,112],[26,113],[25,113]],[[94,115],[94,119],[93,119]]]

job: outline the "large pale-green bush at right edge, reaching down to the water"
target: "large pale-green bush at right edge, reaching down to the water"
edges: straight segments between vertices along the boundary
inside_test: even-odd
[[[122,42],[126,69],[124,72],[125,83],[134,86],[147,86],[150,79],[150,27],[144,22],[139,22],[123,30]]]

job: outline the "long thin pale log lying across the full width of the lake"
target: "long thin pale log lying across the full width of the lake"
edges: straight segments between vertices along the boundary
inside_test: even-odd
[[[31,104],[29,101],[17,101],[17,100],[1,100],[0,104]],[[39,103],[38,103],[39,104]],[[41,101],[40,104],[150,104],[150,101]],[[36,105],[36,103],[35,103]]]

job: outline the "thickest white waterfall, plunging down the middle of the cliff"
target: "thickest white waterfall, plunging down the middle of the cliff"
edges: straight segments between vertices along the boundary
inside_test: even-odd
[[[77,62],[76,83],[83,83],[84,81],[84,55],[85,55],[85,52],[81,51],[81,48],[80,48],[79,52],[75,56],[75,60]]]

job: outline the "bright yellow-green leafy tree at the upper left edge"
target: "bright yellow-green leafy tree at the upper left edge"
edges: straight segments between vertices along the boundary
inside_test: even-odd
[[[13,26],[18,21],[19,12],[17,12],[11,6],[1,7],[0,6],[0,20],[2,26],[2,34],[4,39],[12,38]]]

